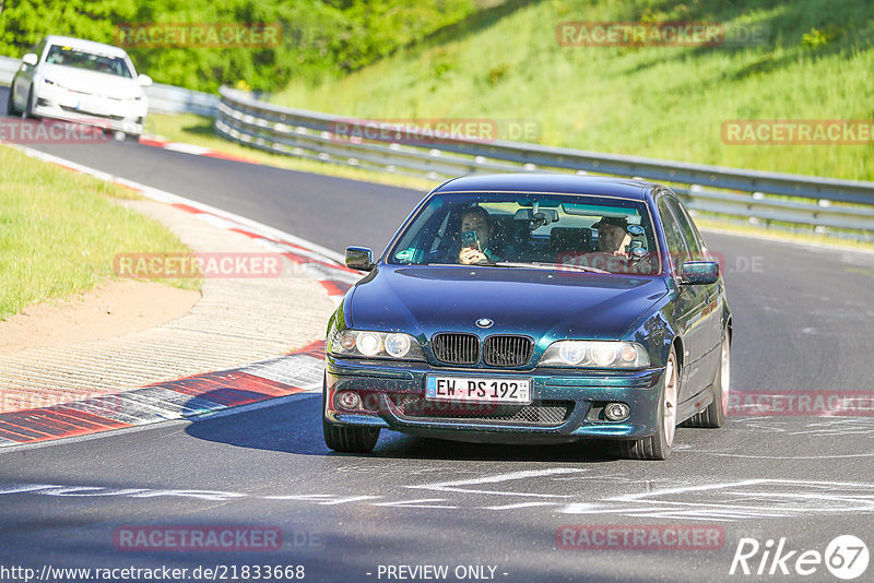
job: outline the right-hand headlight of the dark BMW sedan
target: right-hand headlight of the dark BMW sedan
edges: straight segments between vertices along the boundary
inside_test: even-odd
[[[643,368],[649,366],[646,348],[636,342],[559,341],[546,348],[542,367]]]

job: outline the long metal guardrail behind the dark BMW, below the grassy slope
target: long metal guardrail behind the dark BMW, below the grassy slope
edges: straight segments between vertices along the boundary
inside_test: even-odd
[[[440,138],[423,144],[403,128],[393,141],[338,136],[352,120],[292,109],[222,87],[218,134],[261,150],[324,163],[438,179],[476,172],[564,170],[669,183],[696,213],[773,228],[799,227],[874,240],[874,182],[617,156],[538,144]],[[418,145],[416,145],[418,143]]]

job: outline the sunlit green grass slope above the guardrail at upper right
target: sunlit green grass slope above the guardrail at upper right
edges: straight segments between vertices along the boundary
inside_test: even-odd
[[[556,40],[560,22],[641,20],[756,24],[769,40],[743,48]],[[272,100],[361,118],[530,120],[547,145],[874,180],[871,144],[729,145],[721,134],[734,119],[872,120],[872,39],[870,0],[510,1],[345,78],[292,83]]]

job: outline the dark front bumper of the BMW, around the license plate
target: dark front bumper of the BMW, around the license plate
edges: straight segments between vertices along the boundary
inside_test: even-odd
[[[323,414],[335,425],[381,427],[423,437],[470,441],[560,442],[581,438],[641,439],[658,430],[664,369],[597,371],[433,367],[426,362],[340,359],[326,365]],[[437,404],[425,400],[428,374],[531,379],[529,406]],[[335,393],[356,391],[364,404],[345,411]],[[603,405],[630,407],[623,421],[603,417]],[[440,409],[440,406],[444,406]],[[564,413],[562,413],[564,412]]]

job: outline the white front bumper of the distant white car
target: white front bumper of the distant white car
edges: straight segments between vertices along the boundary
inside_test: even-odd
[[[144,98],[141,102],[110,99],[63,88],[47,91],[45,87],[34,97],[33,114],[37,117],[85,123],[133,135],[143,133],[147,111]]]

